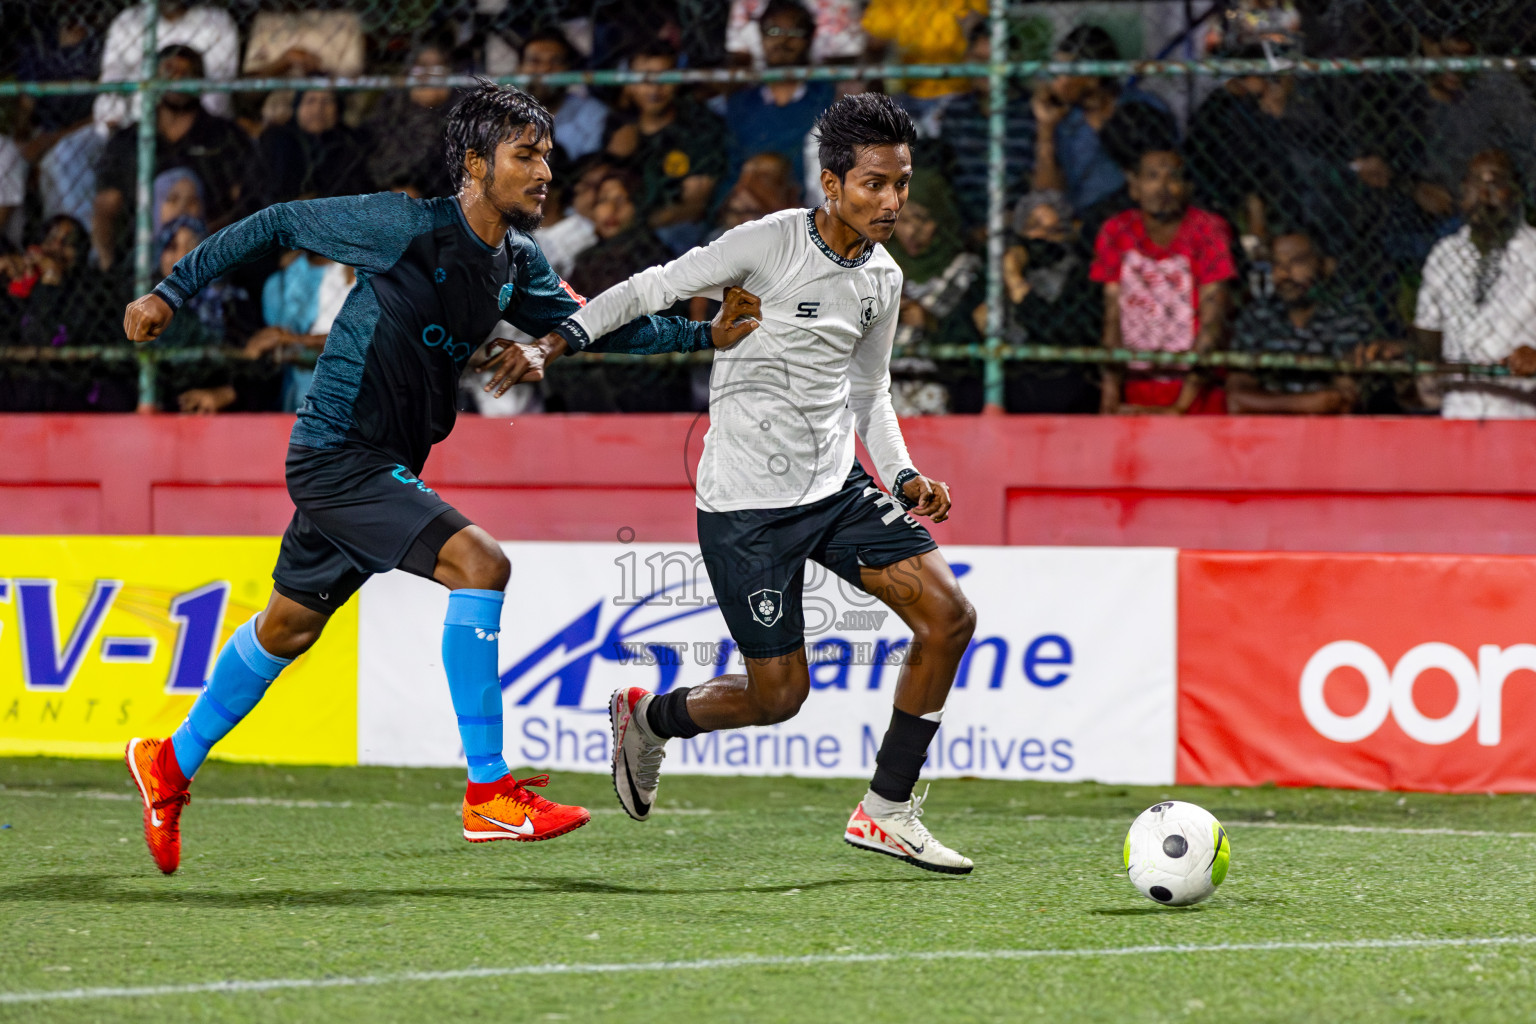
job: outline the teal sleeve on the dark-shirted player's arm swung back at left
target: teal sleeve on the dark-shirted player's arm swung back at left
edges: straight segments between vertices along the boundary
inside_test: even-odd
[[[425,230],[432,230],[432,212],[396,192],[280,203],[204,238],[155,286],[155,295],[181,309],[209,281],[278,249],[304,249],[378,275]]]

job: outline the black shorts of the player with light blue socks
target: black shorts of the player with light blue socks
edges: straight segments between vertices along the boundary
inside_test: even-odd
[[[289,447],[293,519],[272,580],[290,600],[332,614],[373,573],[432,579],[438,551],[470,525],[407,467],[367,448]]]

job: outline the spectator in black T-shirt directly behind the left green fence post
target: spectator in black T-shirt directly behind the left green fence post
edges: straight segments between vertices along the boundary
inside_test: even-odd
[[[201,78],[203,57],[187,46],[166,46],[160,51],[160,77]],[[209,227],[215,230],[258,204],[255,147],[233,121],[204,111],[195,92],[166,92],[155,107],[155,173],[170,167],[189,167],[203,181]],[[132,232],[124,227],[137,187],[138,126],[129,124],[108,140],[97,167],[91,236],[103,270],[127,252]]]

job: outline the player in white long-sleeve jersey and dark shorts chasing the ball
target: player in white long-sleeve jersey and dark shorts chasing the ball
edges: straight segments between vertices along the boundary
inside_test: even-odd
[[[843,838],[929,870],[968,874],[971,861],[923,826],[923,798],[912,792],[975,628],[949,565],[912,519],[943,522],[949,491],[912,467],[891,408],[902,270],[880,243],[906,203],[915,130],[879,94],[839,100],[816,130],[823,206],[742,224],[642,270],[562,324],[585,347],[679,299],[736,287],[760,302],[750,341],[714,356],[697,477],[699,545],[746,672],[665,694],[617,691],[614,791],[644,821],[668,738],[773,725],[800,709],[809,694],[800,590],[814,559],[912,629],[891,728]],[[508,348],[488,387],[538,379],[565,344],[550,335]],[[856,433],[889,494],[854,457]]]

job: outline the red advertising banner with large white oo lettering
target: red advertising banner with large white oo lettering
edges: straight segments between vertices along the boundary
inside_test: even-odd
[[[1536,792],[1536,559],[1178,560],[1181,783]]]

